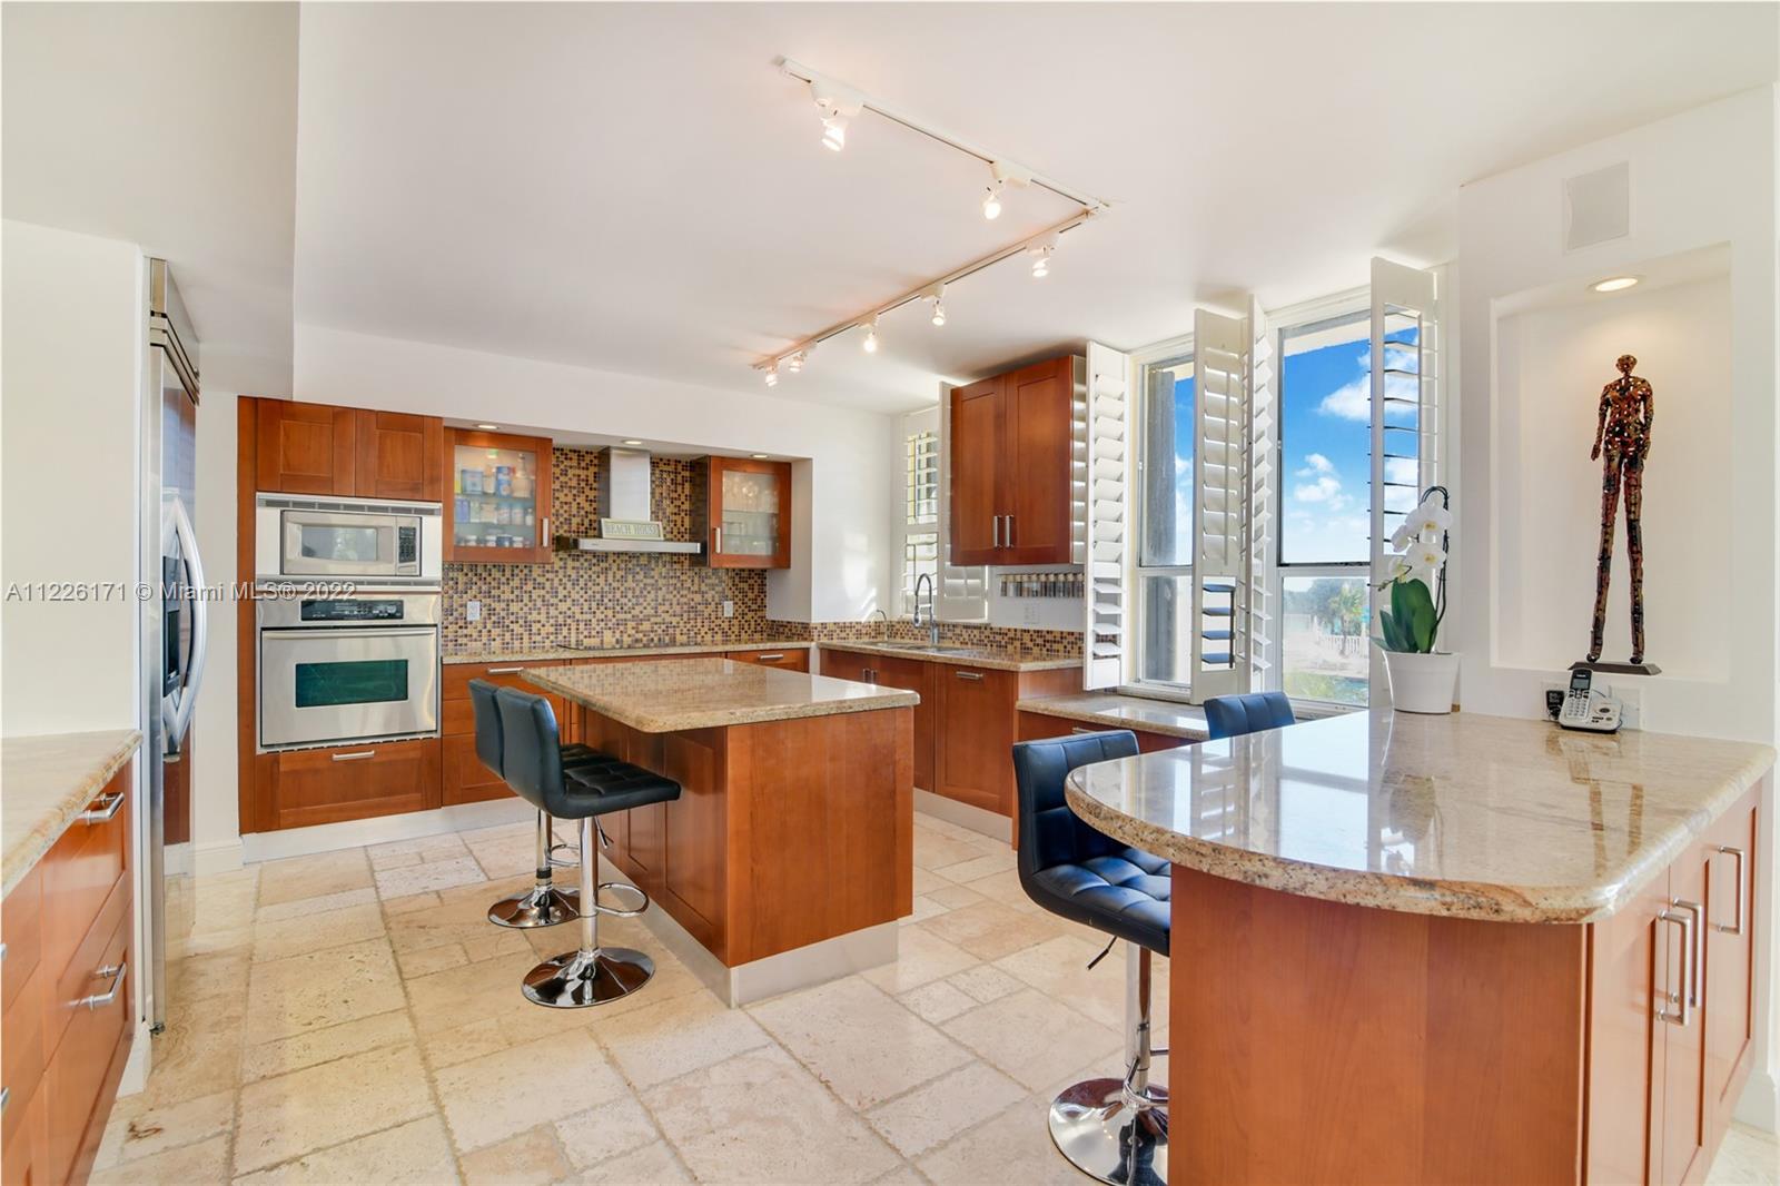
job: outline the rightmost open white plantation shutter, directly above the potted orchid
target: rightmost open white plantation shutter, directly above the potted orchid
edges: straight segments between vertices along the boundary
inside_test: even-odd
[[[1372,260],[1372,588],[1390,536],[1440,481],[1440,303],[1433,272]],[[1378,614],[1372,614],[1378,632]],[[1385,700],[1372,650],[1372,703]]]

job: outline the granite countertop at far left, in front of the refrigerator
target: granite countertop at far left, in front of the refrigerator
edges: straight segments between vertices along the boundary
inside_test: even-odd
[[[134,728],[0,737],[0,894],[12,892],[141,744]]]

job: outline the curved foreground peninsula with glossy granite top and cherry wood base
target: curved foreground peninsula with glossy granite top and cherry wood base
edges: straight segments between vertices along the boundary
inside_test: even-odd
[[[1173,862],[1169,1181],[1698,1181],[1775,751],[1358,712],[1077,769]]]

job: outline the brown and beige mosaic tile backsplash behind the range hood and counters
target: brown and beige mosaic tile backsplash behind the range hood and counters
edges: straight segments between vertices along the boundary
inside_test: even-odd
[[[650,515],[669,540],[692,538],[692,461],[651,458]],[[555,449],[550,456],[554,531],[598,529],[600,454]],[[548,565],[445,565],[447,655],[523,652],[546,646],[668,646],[812,639],[828,643],[926,641],[908,621],[780,621],[767,618],[762,570],[707,568],[696,556],[651,552],[557,552]],[[481,621],[465,602],[482,602]],[[723,602],[735,616],[723,616]],[[945,625],[945,641],[990,646],[1022,659],[1082,654],[1077,630],[1018,630]]]

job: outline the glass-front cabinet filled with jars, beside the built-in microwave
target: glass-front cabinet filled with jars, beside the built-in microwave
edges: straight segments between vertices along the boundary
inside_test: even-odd
[[[550,440],[445,429],[445,559],[550,563]]]

